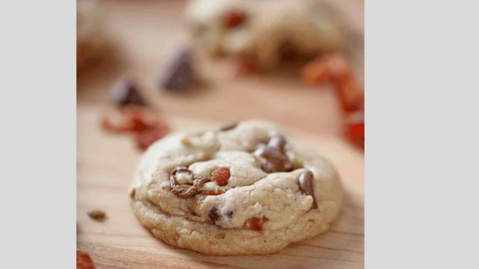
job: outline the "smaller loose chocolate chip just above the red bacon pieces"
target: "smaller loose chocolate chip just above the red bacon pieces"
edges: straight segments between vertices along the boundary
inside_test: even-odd
[[[131,78],[125,78],[118,82],[111,90],[110,95],[114,103],[119,106],[128,104],[145,105],[135,82]]]

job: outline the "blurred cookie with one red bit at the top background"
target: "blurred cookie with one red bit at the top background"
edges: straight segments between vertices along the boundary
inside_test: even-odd
[[[185,17],[193,48],[247,57],[263,70],[285,51],[316,56],[344,43],[331,7],[318,0],[192,0]]]

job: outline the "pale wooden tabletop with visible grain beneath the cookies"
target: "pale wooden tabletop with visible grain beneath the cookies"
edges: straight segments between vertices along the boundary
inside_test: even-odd
[[[77,249],[88,252],[99,269],[363,268],[364,155],[338,135],[341,121],[332,90],[305,85],[295,64],[268,76],[238,78],[228,60],[200,59],[197,70],[207,85],[186,93],[160,92],[154,79],[184,40],[178,16],[184,3],[102,3],[109,12],[115,54],[77,82]],[[354,25],[351,29],[361,34],[364,2],[340,3]],[[362,46],[351,54],[358,78],[363,77],[363,56]],[[339,219],[324,234],[264,256],[206,256],[156,239],[129,206],[127,188],[141,152],[131,136],[104,133],[98,124],[102,111],[111,106],[108,90],[125,73],[137,79],[148,101],[174,130],[262,119],[317,148],[342,177],[346,197]],[[87,212],[92,209],[104,210],[107,218],[90,219]]]

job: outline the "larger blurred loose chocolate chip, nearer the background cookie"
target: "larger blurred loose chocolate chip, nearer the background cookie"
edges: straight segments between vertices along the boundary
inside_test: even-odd
[[[191,62],[189,51],[182,50],[160,78],[160,87],[174,91],[188,89],[194,80]]]

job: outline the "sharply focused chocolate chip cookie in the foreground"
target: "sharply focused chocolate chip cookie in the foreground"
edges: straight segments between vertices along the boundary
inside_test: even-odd
[[[273,253],[318,235],[338,216],[342,195],[330,163],[256,121],[160,139],[130,189],[153,235],[210,255]]]

